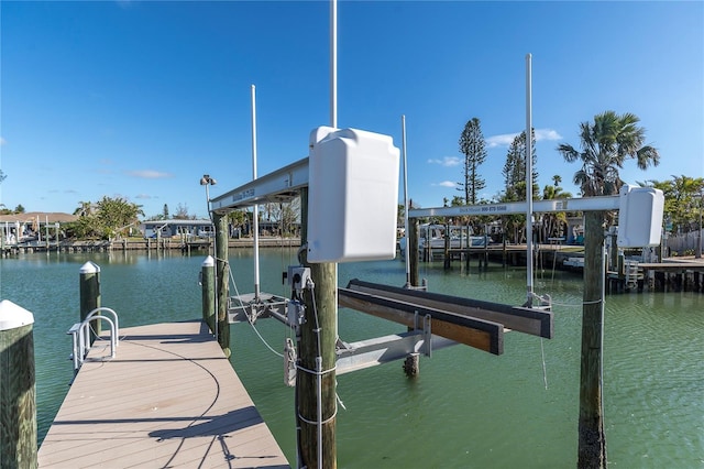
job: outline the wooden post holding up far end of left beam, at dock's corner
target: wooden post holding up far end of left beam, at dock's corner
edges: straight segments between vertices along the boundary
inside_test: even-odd
[[[230,323],[228,320],[228,284],[230,263],[228,262],[228,217],[213,215],[216,226],[216,305],[218,305],[218,343],[230,358]]]

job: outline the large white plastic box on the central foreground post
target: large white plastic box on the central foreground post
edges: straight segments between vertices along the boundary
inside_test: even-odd
[[[308,156],[308,262],[394,259],[399,151],[389,135],[319,127]]]

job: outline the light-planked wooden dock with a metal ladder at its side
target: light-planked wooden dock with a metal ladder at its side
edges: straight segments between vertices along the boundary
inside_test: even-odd
[[[201,321],[96,341],[38,450],[43,468],[289,468]]]

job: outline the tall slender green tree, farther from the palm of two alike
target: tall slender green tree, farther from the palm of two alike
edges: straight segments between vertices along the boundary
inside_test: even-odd
[[[482,126],[477,118],[470,119],[460,135],[460,152],[464,155],[464,182],[458,183],[458,190],[464,190],[464,203],[474,205],[479,193],[486,187],[486,181],[479,173],[479,166],[486,160],[486,149]]]

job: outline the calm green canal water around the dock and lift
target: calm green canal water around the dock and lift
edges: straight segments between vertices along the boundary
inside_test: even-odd
[[[285,295],[280,273],[295,250],[262,250],[262,290]],[[198,272],[205,255],[180,253],[22,255],[0,260],[0,298],[35,316],[40,440],[72,378],[70,338],[78,319],[78,270],[101,268],[102,306],[120,325],[198,318]],[[252,291],[252,253],[231,252],[237,286]],[[424,265],[430,290],[520,304],[525,270],[491,266],[446,273]],[[339,283],[402,285],[400,261],[340,264]],[[341,468],[565,468],[576,461],[582,282],[574,274],[538,272],[538,293],[556,304],[556,339],[510,332],[504,355],[464,346],[421,358],[407,379],[400,362],[338,378],[346,410],[338,413]],[[287,335],[274,320],[256,324],[280,349]],[[345,341],[402,331],[400,326],[340,310]],[[622,468],[704,467],[704,299],[693,293],[608,296],[604,343],[604,405],[609,465]],[[542,346],[542,347],[541,347]],[[542,351],[541,351],[542,348]],[[249,325],[232,326],[232,362],[262,416],[295,463],[294,392],[283,384],[278,357]],[[543,352],[546,389],[543,378]]]

